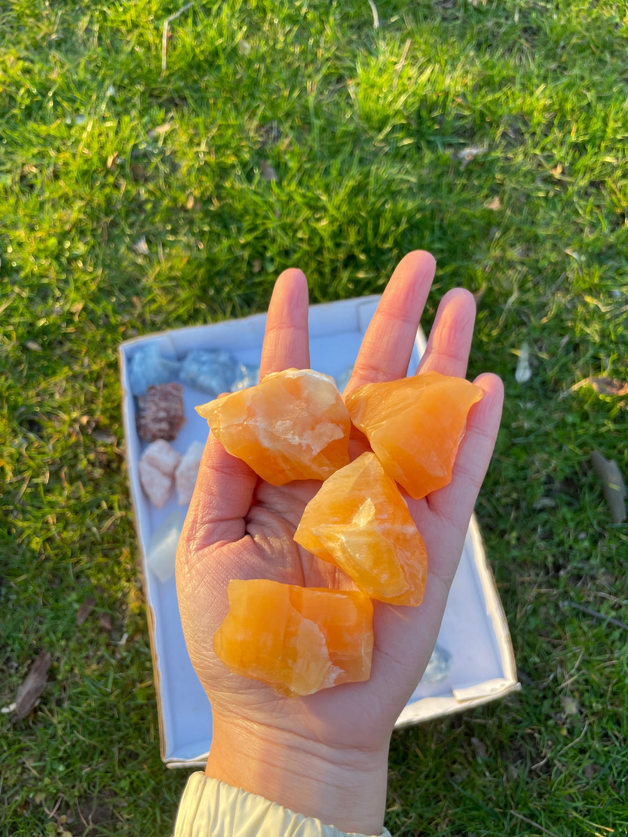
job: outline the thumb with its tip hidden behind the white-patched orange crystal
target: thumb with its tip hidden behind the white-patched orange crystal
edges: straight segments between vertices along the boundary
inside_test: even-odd
[[[254,471],[210,433],[182,533],[182,541],[193,547],[190,555],[244,537],[256,483]]]

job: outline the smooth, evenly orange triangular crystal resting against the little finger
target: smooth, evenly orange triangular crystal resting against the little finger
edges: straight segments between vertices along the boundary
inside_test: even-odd
[[[483,394],[462,377],[425,372],[367,383],[345,403],[384,470],[419,500],[450,482],[467,413]]]

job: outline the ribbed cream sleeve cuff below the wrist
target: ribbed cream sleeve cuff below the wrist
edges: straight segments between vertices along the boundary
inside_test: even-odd
[[[193,773],[183,791],[174,837],[364,837],[304,817],[254,793]],[[375,835],[371,835],[375,837]],[[390,837],[383,829],[377,837]]]

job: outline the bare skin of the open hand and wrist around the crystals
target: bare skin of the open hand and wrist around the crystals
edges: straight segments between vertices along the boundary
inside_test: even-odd
[[[428,253],[401,260],[364,336],[347,392],[404,377],[434,274]],[[261,377],[309,367],[307,313],[306,278],[286,270],[270,300]],[[464,377],[474,321],[473,296],[448,291],[417,373]],[[423,500],[407,498],[428,552],[423,603],[374,602],[370,679],[306,697],[277,696],[258,680],[231,674],[214,655],[213,638],[228,610],[232,578],[353,588],[341,571],[293,541],[320,483],[268,485],[209,434],[177,556],[183,631],[214,715],[209,776],[343,831],[381,833],[394,721],[434,649],[501,418],[500,379],[483,374],[475,383],[485,395],[469,413],[453,479]],[[359,442],[352,445],[353,458],[361,449]]]

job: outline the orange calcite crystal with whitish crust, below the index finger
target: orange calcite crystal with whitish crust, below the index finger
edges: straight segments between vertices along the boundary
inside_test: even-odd
[[[271,485],[325,480],[349,461],[347,408],[322,372],[274,372],[196,410],[224,449]]]

